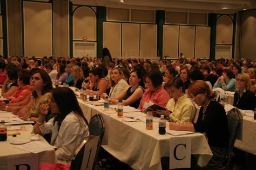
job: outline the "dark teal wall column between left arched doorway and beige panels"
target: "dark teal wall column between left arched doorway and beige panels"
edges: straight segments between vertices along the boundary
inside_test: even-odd
[[[102,49],[103,49],[103,22],[107,20],[107,7],[105,6],[97,6],[97,58],[102,57]]]

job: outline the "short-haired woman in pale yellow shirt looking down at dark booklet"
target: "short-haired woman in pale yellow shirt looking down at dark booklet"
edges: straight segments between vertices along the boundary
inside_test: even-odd
[[[167,105],[166,110],[157,110],[157,114],[168,116],[171,122],[185,124],[192,122],[195,118],[196,108],[186,94],[182,92],[184,83],[181,78],[169,80],[165,89],[172,97]]]

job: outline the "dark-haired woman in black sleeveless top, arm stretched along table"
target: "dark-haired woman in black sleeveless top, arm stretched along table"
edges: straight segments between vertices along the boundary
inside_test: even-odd
[[[118,104],[119,100],[122,100],[124,106],[129,105],[130,107],[138,108],[140,105],[141,97],[144,93],[144,81],[143,74],[140,70],[133,70],[130,74],[129,83],[130,86],[125,88],[121,94],[109,98],[112,103]],[[103,99],[106,98],[106,94],[101,95]]]

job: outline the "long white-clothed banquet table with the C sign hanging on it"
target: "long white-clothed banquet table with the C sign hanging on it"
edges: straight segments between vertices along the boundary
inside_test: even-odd
[[[88,121],[97,113],[103,116],[106,131],[102,147],[106,151],[135,170],[162,170],[161,157],[169,156],[170,138],[175,136],[158,133],[159,118],[154,118],[153,130],[146,130],[145,123],[124,122],[116,113],[105,113],[103,106],[93,106],[80,99],[78,101]],[[134,114],[144,113],[124,113],[124,116]],[[202,133],[182,136],[191,137],[191,154],[199,155],[197,164],[206,165],[212,157],[212,152],[205,136]]]

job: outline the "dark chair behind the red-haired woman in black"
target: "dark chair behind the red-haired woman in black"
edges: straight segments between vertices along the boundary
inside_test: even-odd
[[[242,116],[238,108],[231,109],[228,114],[228,129],[229,129],[229,143],[226,153],[226,161],[222,167],[206,167],[203,170],[227,170],[229,168],[231,153],[236,141],[236,137],[239,131],[239,127],[242,122]]]

